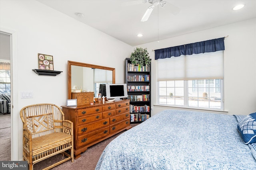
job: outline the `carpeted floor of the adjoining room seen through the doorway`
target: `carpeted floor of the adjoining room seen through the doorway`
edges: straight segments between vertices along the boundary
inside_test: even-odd
[[[0,160],[11,160],[11,115],[0,113]]]

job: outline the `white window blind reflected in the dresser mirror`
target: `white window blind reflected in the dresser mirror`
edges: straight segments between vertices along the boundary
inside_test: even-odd
[[[111,83],[112,71],[103,69],[94,69],[94,83]]]

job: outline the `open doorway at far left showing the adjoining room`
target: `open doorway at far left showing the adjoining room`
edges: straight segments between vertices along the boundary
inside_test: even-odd
[[[0,32],[0,160],[12,160],[11,35]]]

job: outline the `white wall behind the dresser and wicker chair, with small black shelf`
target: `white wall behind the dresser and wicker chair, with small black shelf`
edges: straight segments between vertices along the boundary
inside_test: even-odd
[[[116,68],[116,83],[124,82],[124,59],[132,47],[106,35],[80,21],[74,20],[34,0],[1,0],[0,27],[17,35],[18,110],[13,114],[18,130],[14,158],[22,160],[22,107],[37,103],[66,105],[68,60]],[[57,76],[38,76],[37,54],[52,55],[54,70],[63,71]],[[14,85],[15,86],[15,85]],[[20,99],[21,91],[33,91],[34,98]],[[18,156],[17,156],[18,154]]]

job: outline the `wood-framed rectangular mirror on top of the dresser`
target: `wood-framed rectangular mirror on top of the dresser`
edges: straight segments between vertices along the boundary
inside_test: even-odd
[[[96,94],[101,83],[115,83],[115,68],[68,61],[68,99],[74,89]]]

